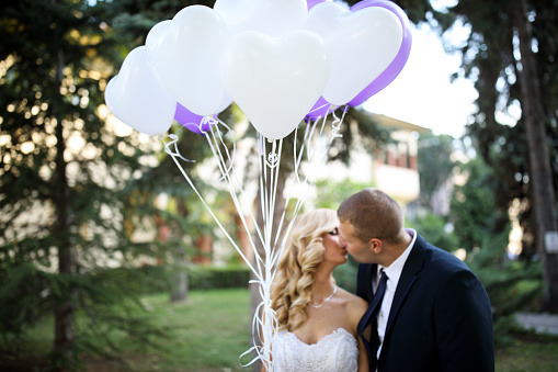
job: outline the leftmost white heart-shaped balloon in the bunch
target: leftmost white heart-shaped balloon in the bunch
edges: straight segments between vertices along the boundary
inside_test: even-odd
[[[138,132],[155,136],[172,125],[176,101],[153,75],[144,46],[126,56],[104,99],[114,116]]]

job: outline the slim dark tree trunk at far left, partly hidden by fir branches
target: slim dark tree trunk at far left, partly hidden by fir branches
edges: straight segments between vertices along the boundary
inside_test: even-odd
[[[64,69],[64,53],[58,50],[58,69],[56,74],[57,81],[61,84]],[[55,115],[56,115],[56,108]],[[73,270],[73,251],[70,240],[70,212],[69,212],[69,185],[66,171],[66,143],[64,138],[62,117],[56,115],[56,172],[55,172],[55,192],[53,195],[54,207],[56,211],[56,221],[54,225],[54,235],[58,239],[58,272],[60,275],[71,275]],[[71,289],[68,297],[62,297],[55,304],[55,341],[54,358],[58,359],[59,371],[68,370],[71,360],[76,358],[73,343],[73,305],[71,302]],[[66,294],[62,294],[62,296]]]

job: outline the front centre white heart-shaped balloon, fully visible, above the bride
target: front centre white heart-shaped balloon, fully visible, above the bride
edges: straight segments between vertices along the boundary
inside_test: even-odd
[[[246,31],[230,40],[221,72],[230,97],[264,137],[287,136],[318,101],[331,61],[321,37]]]

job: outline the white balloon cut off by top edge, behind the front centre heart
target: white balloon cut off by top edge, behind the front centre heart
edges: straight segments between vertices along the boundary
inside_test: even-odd
[[[213,9],[231,34],[259,31],[274,37],[303,29],[308,14],[306,0],[217,0]]]

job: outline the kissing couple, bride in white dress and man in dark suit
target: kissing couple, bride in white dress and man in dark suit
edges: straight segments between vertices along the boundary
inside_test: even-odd
[[[360,263],[356,294],[333,279],[348,253]],[[406,228],[402,208],[377,189],[351,195],[337,213],[319,208],[294,221],[272,307],[274,372],[494,371],[481,282]]]

